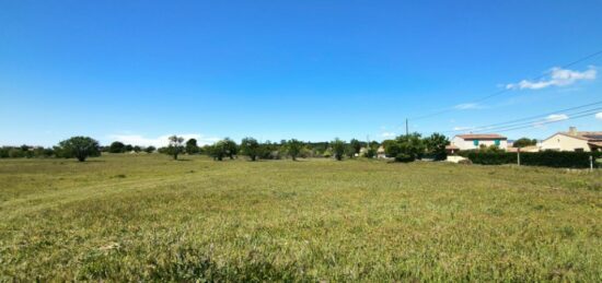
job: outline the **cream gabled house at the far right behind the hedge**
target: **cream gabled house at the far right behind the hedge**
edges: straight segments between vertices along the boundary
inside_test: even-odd
[[[577,131],[570,127],[568,132],[557,132],[542,142],[542,151],[602,151],[602,131]]]

